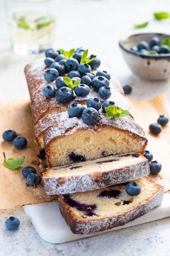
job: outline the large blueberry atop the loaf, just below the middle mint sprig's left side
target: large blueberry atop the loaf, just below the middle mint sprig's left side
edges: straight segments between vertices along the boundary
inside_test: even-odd
[[[68,103],[73,99],[73,90],[71,88],[63,86],[55,92],[55,99],[59,103]]]

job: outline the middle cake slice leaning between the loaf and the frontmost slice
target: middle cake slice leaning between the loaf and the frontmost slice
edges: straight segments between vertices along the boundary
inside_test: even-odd
[[[47,168],[42,180],[46,194],[57,195],[120,184],[149,173],[148,160],[139,153],[129,153]]]

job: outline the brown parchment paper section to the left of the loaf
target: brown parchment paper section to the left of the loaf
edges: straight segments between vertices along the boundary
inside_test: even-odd
[[[3,140],[4,130],[12,129],[18,135],[26,137],[28,144],[24,149],[16,149],[13,143]],[[6,158],[17,159],[25,156],[24,164],[17,170],[4,166]],[[26,184],[21,174],[23,166],[33,166],[40,174],[37,149],[33,140],[33,121],[30,101],[0,102],[0,209],[13,209],[15,206],[52,201],[55,197],[46,196],[42,185],[35,187]]]

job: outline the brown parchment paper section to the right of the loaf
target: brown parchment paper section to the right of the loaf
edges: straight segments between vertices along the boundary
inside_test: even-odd
[[[127,98],[135,122],[137,122],[145,131],[148,138],[146,150],[153,153],[153,160],[157,160],[162,165],[161,172],[157,175],[149,175],[155,182],[165,187],[165,191],[170,191],[170,115],[169,105],[163,94],[157,95],[151,101],[132,101]],[[159,115],[169,117],[169,122],[163,126],[159,135],[153,135],[149,131],[149,125],[157,123]]]

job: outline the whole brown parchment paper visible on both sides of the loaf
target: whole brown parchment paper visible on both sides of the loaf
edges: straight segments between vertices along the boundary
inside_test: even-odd
[[[168,115],[168,102],[163,94],[158,95],[152,101],[132,101],[129,98],[135,121],[140,124],[148,137],[146,149],[152,151],[153,160],[162,164],[161,173],[150,175],[153,180],[170,190],[170,124],[163,127],[158,135],[149,132],[149,125],[157,122],[159,115]],[[18,150],[13,143],[2,139],[4,130],[13,129],[18,135],[26,137],[28,144],[26,148]],[[3,153],[6,158],[18,158],[25,156],[24,164],[17,170],[9,170],[4,167]],[[55,200],[56,197],[45,195],[43,186],[30,186],[22,177],[23,166],[31,165],[40,174],[38,167],[37,149],[33,140],[33,121],[31,115],[30,101],[1,101],[0,102],[0,209],[13,209],[18,205],[35,204]]]

